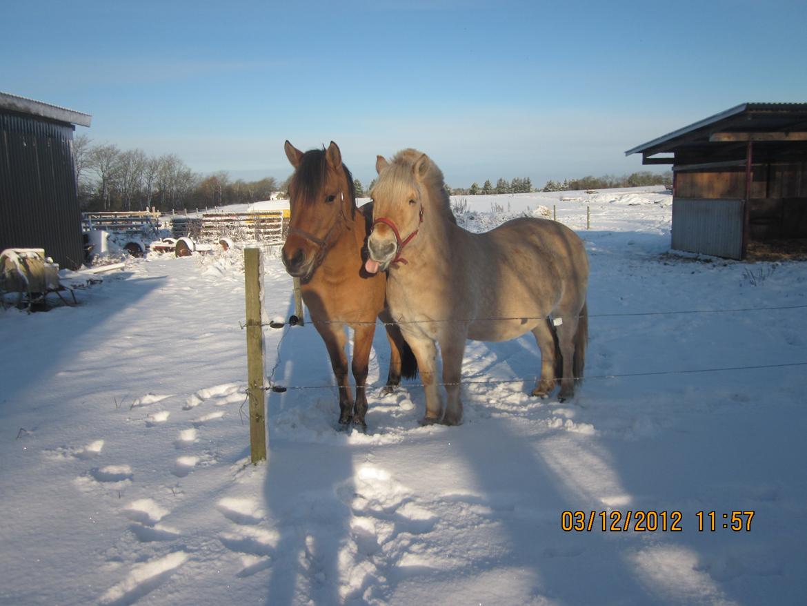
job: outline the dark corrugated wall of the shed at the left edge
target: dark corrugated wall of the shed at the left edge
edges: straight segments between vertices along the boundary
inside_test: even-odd
[[[44,248],[77,269],[81,221],[73,125],[0,111],[0,250]]]

